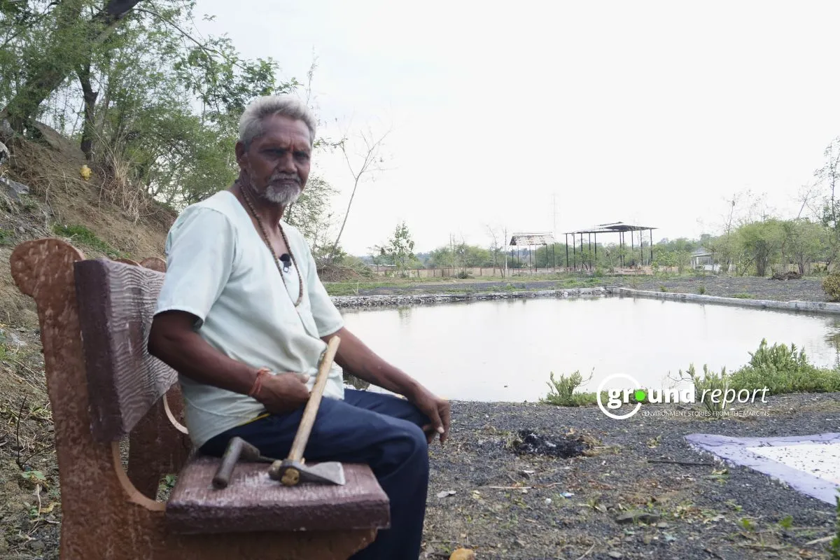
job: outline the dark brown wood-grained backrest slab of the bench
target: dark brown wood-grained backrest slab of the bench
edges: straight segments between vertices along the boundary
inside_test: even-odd
[[[100,442],[129,434],[176,383],[147,350],[164,274],[110,260],[75,264],[91,431]]]

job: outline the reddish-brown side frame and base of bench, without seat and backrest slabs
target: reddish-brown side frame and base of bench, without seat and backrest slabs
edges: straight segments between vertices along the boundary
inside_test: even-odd
[[[118,442],[92,436],[74,280],[81,259],[58,239],[21,243],[10,259],[18,288],[38,306],[60,473],[61,558],[326,560],[347,558],[373,542],[375,529],[198,536],[170,531],[165,505],[141,494],[123,471]]]

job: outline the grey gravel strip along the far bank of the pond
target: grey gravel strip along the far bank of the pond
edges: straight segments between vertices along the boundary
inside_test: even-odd
[[[662,286],[668,291],[683,293],[699,293],[700,287],[705,286],[708,296],[735,296],[748,294],[750,299],[778,300],[778,301],[827,301],[822,291],[822,279],[806,278],[803,280],[769,280],[753,276],[732,277],[708,275],[706,277],[675,278],[671,280],[658,279],[651,276],[611,276],[601,279],[601,285],[614,285],[637,290],[659,291]],[[596,281],[592,279],[592,281]],[[491,290],[507,288],[512,285],[517,290],[556,290],[567,288],[562,280],[519,280],[478,282],[470,280],[453,281],[451,283],[415,284],[400,287],[378,287],[359,290],[360,296],[441,293],[448,290]],[[507,288],[510,289],[510,288]]]

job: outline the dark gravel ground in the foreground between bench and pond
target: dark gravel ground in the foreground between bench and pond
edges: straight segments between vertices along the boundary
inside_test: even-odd
[[[807,543],[832,534],[831,505],[749,468],[648,463],[717,463],[685,442],[694,432],[840,432],[840,394],[768,400],[753,410],[765,407],[769,416],[637,414],[626,421],[608,419],[596,406],[454,402],[451,441],[431,447],[424,557],[472,547],[481,559],[827,558],[827,542]],[[576,458],[519,455],[509,446],[520,430],[555,442],[582,435],[593,447]],[[448,490],[454,494],[438,497]],[[619,523],[627,510],[655,517]],[[779,524],[786,516],[790,527]]]

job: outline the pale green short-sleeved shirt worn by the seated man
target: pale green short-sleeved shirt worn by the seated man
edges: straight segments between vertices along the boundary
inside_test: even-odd
[[[156,313],[186,311],[213,348],[253,368],[309,374],[327,348],[321,337],[344,327],[324,290],[306,240],[285,222],[283,231],[300,270],[277,270],[248,212],[229,191],[187,207],[166,238],[166,276]],[[303,276],[303,301],[297,274]],[[207,440],[265,412],[260,403],[179,375],[192,442]],[[325,397],[344,398],[342,371],[333,364]]]

